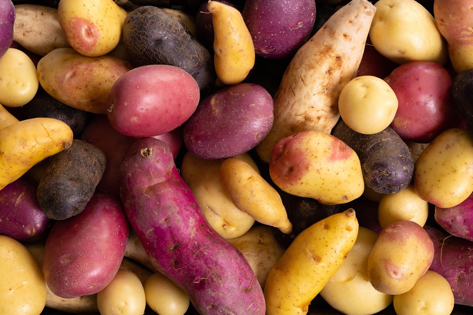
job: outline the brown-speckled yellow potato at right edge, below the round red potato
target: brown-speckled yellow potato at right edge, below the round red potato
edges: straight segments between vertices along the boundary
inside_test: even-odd
[[[435,138],[417,159],[417,195],[439,208],[450,208],[473,193],[473,137],[452,128]]]

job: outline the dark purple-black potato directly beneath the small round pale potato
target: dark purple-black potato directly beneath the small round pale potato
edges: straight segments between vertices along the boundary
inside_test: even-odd
[[[375,192],[398,193],[411,183],[411,151],[391,127],[375,134],[361,134],[340,120],[332,134],[358,154],[365,184]]]

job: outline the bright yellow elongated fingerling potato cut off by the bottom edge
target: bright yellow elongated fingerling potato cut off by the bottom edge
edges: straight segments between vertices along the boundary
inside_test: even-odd
[[[352,209],[299,234],[266,279],[266,314],[307,314],[310,301],[340,268],[357,235],[358,221]]]

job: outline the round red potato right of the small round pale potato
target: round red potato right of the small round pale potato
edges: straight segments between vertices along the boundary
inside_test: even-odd
[[[448,129],[454,107],[452,78],[438,63],[414,61],[396,68],[385,81],[397,96],[390,127],[404,140],[429,143]]]

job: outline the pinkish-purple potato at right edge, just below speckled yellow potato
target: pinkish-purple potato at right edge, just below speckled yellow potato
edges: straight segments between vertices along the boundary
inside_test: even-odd
[[[435,207],[435,220],[451,235],[473,241],[473,194],[455,207]]]

